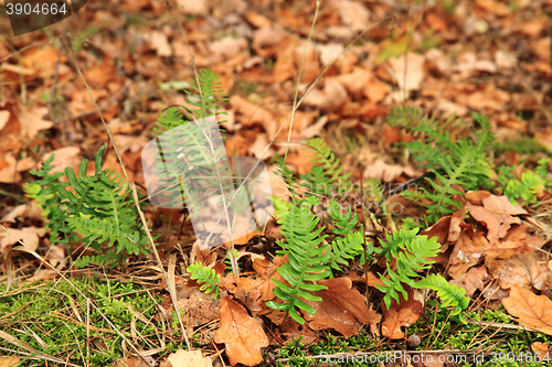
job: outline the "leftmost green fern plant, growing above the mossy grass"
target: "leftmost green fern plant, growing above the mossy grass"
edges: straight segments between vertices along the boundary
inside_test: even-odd
[[[148,238],[140,223],[138,211],[126,190],[127,183],[110,170],[102,170],[103,145],[96,153],[95,173],[86,174],[88,160],[78,166],[78,176],[71,169],[51,173],[54,154],[40,171],[31,173],[40,180],[25,185],[26,196],[35,198],[49,219],[50,241],[67,245],[84,241],[86,250],[93,255],[82,255],[76,267],[88,263],[115,266],[128,255],[147,255],[145,246]],[[68,182],[60,179],[65,176]],[[114,250],[104,251],[104,245]]]

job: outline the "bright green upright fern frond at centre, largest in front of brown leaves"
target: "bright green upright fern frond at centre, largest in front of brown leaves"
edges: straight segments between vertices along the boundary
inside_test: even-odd
[[[274,294],[284,303],[266,302],[268,307],[286,311],[300,324],[304,324],[305,320],[297,309],[310,314],[316,314],[316,310],[301,301],[299,296],[308,301],[321,301],[321,298],[310,292],[327,289],[325,285],[310,283],[329,276],[326,266],[329,256],[325,255],[327,246],[321,245],[327,236],[320,236],[323,227],[316,229],[318,223],[319,219],[307,207],[291,206],[290,213],[284,217],[282,234],[286,240],[278,241],[278,245],[287,251],[289,262],[284,263],[277,271],[289,285],[273,279],[276,284]]]

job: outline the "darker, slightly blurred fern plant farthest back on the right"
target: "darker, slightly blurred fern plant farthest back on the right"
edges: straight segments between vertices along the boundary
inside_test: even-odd
[[[392,109],[388,121],[392,126],[401,126],[414,136],[422,138],[404,145],[420,163],[433,174],[425,177],[425,186],[415,192],[403,194],[411,199],[429,199],[426,205],[427,215],[424,220],[435,223],[443,215],[456,212],[461,203],[453,195],[464,196],[468,190],[491,188],[493,164],[488,151],[496,138],[486,117],[473,114],[474,123],[461,139],[454,139],[461,121],[454,117],[443,121],[424,115],[418,107],[399,107]],[[464,190],[459,190],[463,187]]]

